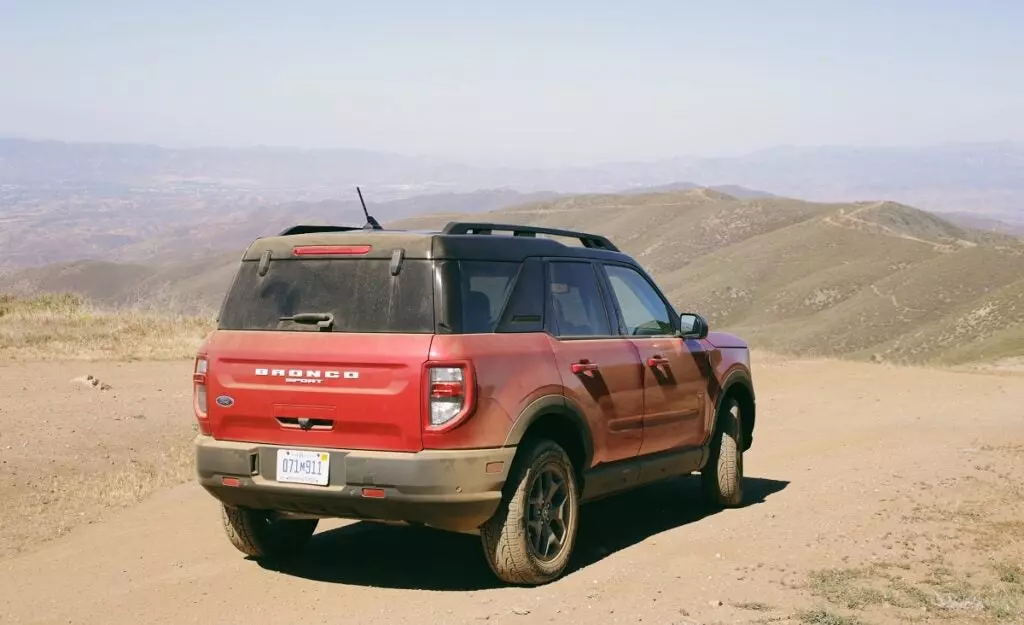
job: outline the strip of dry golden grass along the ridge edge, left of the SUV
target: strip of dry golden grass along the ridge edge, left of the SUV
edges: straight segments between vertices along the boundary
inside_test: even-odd
[[[108,310],[72,294],[0,295],[0,358],[18,361],[188,359],[213,320]]]

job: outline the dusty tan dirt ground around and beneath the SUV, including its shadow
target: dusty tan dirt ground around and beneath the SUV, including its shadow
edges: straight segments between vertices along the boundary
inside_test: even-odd
[[[0,366],[0,623],[1024,622],[1024,376],[756,367],[748,506],[693,478],[589,505],[572,573],[521,589],[473,537],[369,524],[263,569],[165,486],[187,364]]]

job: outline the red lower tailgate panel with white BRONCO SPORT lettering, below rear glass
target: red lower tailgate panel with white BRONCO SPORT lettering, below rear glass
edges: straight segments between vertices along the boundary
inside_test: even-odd
[[[419,451],[431,338],[215,332],[207,343],[211,433],[221,441]]]

